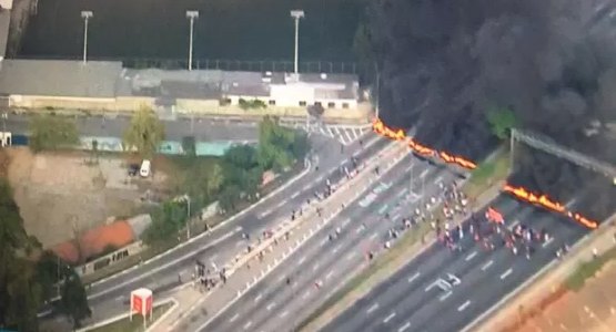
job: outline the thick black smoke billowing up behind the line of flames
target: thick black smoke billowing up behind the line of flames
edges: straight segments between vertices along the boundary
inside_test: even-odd
[[[377,0],[370,32],[383,121],[415,127],[428,146],[481,159],[495,143],[486,121],[508,107],[519,127],[614,163],[616,1]],[[613,14],[614,12],[614,14]],[[596,188],[610,212],[612,178],[523,149],[512,181],[567,200]]]

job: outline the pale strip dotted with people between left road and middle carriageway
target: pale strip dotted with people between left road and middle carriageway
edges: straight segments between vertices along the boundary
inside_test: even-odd
[[[249,290],[253,284],[263,279],[277,264],[319,232],[342,210],[342,204],[349,205],[360,197],[374,181],[372,169],[378,165],[383,170],[395,166],[406,155],[405,148],[392,144],[378,157],[378,160],[368,160],[363,172],[344,184],[332,194],[324,206],[322,206],[322,218],[316,216],[315,207],[304,211],[294,222],[284,224],[275,231],[269,240],[255,246],[251,253],[236,259],[229,267],[226,283],[213,288],[208,293],[201,293],[193,287],[186,287],[173,298],[180,302],[179,309],[174,310],[164,321],[160,322],[151,331],[194,331],[199,330],[205,321],[213,320],[220,312],[232,305],[234,301]],[[375,157],[376,159],[376,157]],[[376,165],[374,164],[376,163]],[[354,195],[349,195],[353,193]],[[287,232],[287,239],[284,239]],[[280,240],[279,240],[280,239]],[[256,258],[259,252],[266,252],[262,259]],[[208,300],[208,301],[205,301]],[[200,310],[196,310],[201,307]]]

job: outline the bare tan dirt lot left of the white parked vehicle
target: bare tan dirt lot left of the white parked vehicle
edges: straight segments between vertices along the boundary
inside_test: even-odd
[[[145,191],[164,183],[164,174],[133,179],[117,155],[81,152],[41,153],[8,149],[9,180],[28,234],[49,247],[104,224],[109,217],[133,215]],[[1,162],[1,159],[0,159]]]

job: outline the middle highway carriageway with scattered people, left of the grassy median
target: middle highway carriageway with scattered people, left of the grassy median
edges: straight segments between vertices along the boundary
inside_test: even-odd
[[[443,166],[431,166],[406,156],[370,188],[384,190],[373,201],[360,198],[350,205],[329,227],[200,331],[292,330],[302,315],[325,299],[325,294],[366,264],[368,250],[383,248],[388,230],[401,226],[401,217],[410,215],[408,211],[421,204],[422,188],[427,199],[440,194],[438,181],[446,184],[454,178],[456,176]],[[367,193],[362,196],[367,197]],[[384,219],[386,212],[391,221]],[[330,240],[329,235],[335,234],[339,227],[340,237]],[[286,283],[286,278],[291,284]],[[322,282],[319,289],[316,281]]]

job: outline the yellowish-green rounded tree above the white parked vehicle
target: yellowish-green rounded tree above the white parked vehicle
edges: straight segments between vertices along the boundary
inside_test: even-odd
[[[164,125],[148,106],[141,106],[131,120],[122,139],[124,151],[137,149],[142,158],[151,158],[164,139]]]

